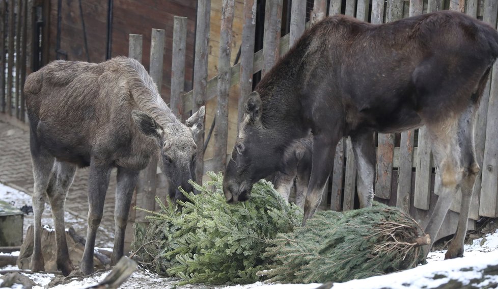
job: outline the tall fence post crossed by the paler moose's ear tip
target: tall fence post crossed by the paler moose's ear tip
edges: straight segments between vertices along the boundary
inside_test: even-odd
[[[206,103],[210,11],[211,0],[199,1],[197,5],[196,56],[193,68],[192,113],[195,113]],[[204,125],[195,141],[197,144],[196,180],[201,183],[204,174]]]

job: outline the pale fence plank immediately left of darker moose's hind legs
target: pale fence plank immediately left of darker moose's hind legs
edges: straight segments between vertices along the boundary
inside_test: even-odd
[[[431,148],[425,127],[419,128],[413,206],[429,209],[431,189]]]

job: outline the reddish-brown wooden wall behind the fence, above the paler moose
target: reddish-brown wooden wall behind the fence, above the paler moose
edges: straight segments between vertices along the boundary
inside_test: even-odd
[[[50,0],[50,45],[49,60],[57,59],[57,4]],[[105,61],[107,47],[107,6],[108,1],[64,0],[61,9],[61,49],[67,52],[67,60],[87,61],[84,44],[84,19],[89,58],[91,62]],[[164,63],[161,96],[170,99],[171,50],[173,37],[173,17],[187,17],[187,46],[185,67],[185,90],[192,87],[193,52],[196,25],[196,0],[114,0],[112,23],[112,57],[128,55],[128,35],[143,34],[143,64],[149,68],[151,30],[165,30]],[[64,56],[60,55],[60,59]]]

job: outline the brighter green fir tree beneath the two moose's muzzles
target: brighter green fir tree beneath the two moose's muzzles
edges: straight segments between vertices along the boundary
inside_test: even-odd
[[[135,259],[181,283],[254,282],[270,261],[263,256],[267,240],[292,231],[302,212],[264,180],[254,185],[250,201],[227,204],[222,175],[208,174],[212,180],[204,186],[192,182],[200,194],[185,193],[189,201],[180,202],[181,212],[156,198],[160,212],[148,211],[148,227],[135,228]]]

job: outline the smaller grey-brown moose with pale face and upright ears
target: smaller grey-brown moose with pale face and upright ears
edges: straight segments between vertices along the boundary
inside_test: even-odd
[[[64,203],[77,167],[90,167],[88,233],[80,264],[84,274],[93,272],[95,238],[109,175],[117,168],[111,260],[116,264],[123,255],[133,189],[151,156],[160,151],[172,199],[183,197],[180,186],[192,191],[188,180],[195,175],[193,135],[203,124],[204,107],[182,124],[142,64],[125,57],[98,64],[54,61],[26,78],[24,92],[35,178],[32,270],[44,270],[40,226],[46,196],[56,230],[57,266],[64,275],[73,270],[64,233]]]

